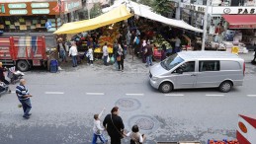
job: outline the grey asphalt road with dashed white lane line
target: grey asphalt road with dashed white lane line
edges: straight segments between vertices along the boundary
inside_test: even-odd
[[[106,108],[103,119],[114,106],[120,107],[128,131],[134,123],[140,126],[146,144],[234,139],[238,114],[256,114],[253,65],[246,65],[244,85],[227,94],[215,89],[162,94],[150,87],[148,69],[128,60],[125,72],[101,64],[64,67],[60,73],[27,72],[33,114],[24,119],[15,94],[2,96],[0,143],[89,144],[93,114]],[[128,138],[123,142],[128,144]]]

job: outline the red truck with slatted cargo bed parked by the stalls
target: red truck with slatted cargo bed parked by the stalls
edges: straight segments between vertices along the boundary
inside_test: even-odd
[[[20,71],[46,66],[44,36],[0,37],[0,61],[6,66],[15,65]]]

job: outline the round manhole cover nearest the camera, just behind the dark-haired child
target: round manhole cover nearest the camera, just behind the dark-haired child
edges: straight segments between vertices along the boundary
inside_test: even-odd
[[[157,119],[148,115],[135,115],[129,118],[128,126],[131,128],[134,124],[142,131],[154,131],[159,126]]]

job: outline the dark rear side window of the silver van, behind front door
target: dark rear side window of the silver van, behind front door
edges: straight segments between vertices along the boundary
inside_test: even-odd
[[[199,61],[199,71],[219,71],[218,60]]]

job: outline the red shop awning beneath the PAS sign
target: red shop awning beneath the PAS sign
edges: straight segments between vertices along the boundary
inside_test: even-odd
[[[255,15],[222,15],[229,29],[256,29]]]

